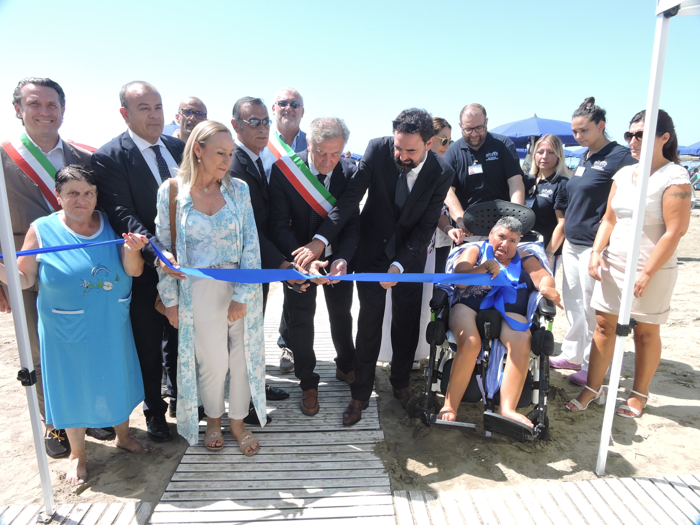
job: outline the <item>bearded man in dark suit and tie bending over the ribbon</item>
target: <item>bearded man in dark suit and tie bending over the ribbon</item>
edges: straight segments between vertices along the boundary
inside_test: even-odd
[[[454,178],[451,167],[430,151],[434,140],[430,113],[421,109],[402,111],[393,121],[393,130],[393,137],[370,141],[358,172],[318,228],[318,235],[332,244],[369,189],[352,261],[356,272],[423,272],[428,243]],[[297,255],[297,262],[305,264],[322,247],[323,243],[314,239]],[[387,288],[392,288],[393,305],[389,380],[394,397],[403,407],[412,395],[408,383],[418,344],[423,285],[358,282],[355,381],[350,386],[352,400],[343,412],[344,425],[362,418],[372,395]]]

